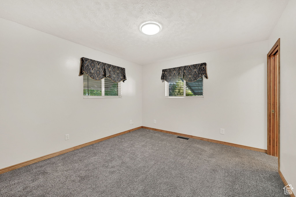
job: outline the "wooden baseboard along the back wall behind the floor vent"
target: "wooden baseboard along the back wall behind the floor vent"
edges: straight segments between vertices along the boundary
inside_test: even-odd
[[[176,132],[172,132],[172,131],[165,131],[165,130],[162,130],[162,129],[151,128],[151,127],[147,127],[147,126],[142,126],[142,128],[146,128],[146,129],[153,130],[153,131],[160,131],[160,132],[164,132],[164,133],[170,133],[170,134],[177,135],[177,136],[189,137],[189,138],[193,138],[193,139],[200,139],[200,140],[204,140],[204,141],[215,142],[215,143],[218,143],[218,144],[224,144],[224,145],[228,145],[228,146],[234,146],[234,147],[239,147],[239,148],[243,148],[243,149],[249,149],[249,150],[253,150],[253,151],[259,151],[259,152],[267,153],[266,149],[259,149],[259,148],[255,148],[255,147],[251,147],[251,146],[233,144],[233,143],[225,142],[225,141],[207,139],[207,138],[187,135],[187,134],[183,134],[183,133],[176,133]]]

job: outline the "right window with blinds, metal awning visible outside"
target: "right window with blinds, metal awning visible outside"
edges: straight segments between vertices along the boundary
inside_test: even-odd
[[[176,83],[165,82],[165,98],[204,98],[204,77],[195,82],[180,79]]]

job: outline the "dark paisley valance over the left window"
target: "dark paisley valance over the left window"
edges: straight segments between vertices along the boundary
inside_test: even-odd
[[[81,67],[79,76],[87,74],[91,79],[101,80],[108,77],[113,82],[124,82],[126,80],[126,69],[114,66],[104,62],[81,58]]]

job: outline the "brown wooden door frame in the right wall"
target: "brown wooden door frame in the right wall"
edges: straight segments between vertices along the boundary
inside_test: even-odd
[[[270,109],[270,61],[269,57],[273,56],[275,53],[278,54],[278,110],[275,111],[275,115],[278,117],[278,124],[277,124],[277,130],[278,130],[278,170],[280,169],[280,38],[276,41],[274,46],[271,48],[271,50],[267,54],[267,154],[270,154],[270,148],[269,148],[269,137],[270,137],[270,126],[269,126],[269,119],[271,118],[271,109]]]

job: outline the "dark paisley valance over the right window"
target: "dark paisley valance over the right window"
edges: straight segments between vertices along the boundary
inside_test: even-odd
[[[195,82],[202,76],[205,76],[206,79],[208,78],[207,63],[163,69],[161,80],[169,83],[176,83],[179,79],[184,79],[186,82]]]

